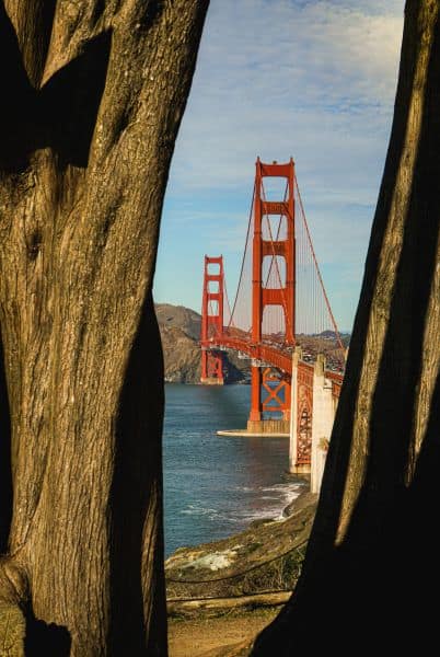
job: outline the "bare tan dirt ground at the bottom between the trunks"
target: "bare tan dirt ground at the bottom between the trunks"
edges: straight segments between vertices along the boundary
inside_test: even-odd
[[[196,620],[169,619],[170,657],[233,657],[280,608]]]

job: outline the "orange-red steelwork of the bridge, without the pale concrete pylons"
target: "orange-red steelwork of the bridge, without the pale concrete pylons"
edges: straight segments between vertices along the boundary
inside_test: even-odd
[[[283,197],[267,198],[266,187],[271,193],[273,181],[280,180],[285,184]],[[201,381],[223,382],[224,350],[239,351],[250,358],[251,422],[259,422],[270,412],[281,412],[285,419],[289,418],[293,350],[297,345],[306,344],[311,335],[325,335],[322,333],[325,328],[332,331],[341,349],[339,371],[335,362],[333,369],[325,371],[334,396],[339,396],[344,348],[317,266],[292,159],[285,164],[266,164],[257,159],[247,238],[232,311],[225,291],[223,258],[205,256],[201,316]],[[310,459],[313,365],[301,359],[298,383],[299,449],[302,445],[299,461],[306,462]]]

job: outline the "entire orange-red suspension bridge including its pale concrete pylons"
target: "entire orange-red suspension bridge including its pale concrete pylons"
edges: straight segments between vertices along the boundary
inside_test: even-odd
[[[274,188],[280,197],[274,198]],[[232,307],[222,256],[205,256],[200,346],[201,383],[223,383],[225,350],[251,360],[246,433],[289,433],[290,470],[310,472],[314,437],[321,446],[329,438],[344,379],[345,347],[292,159],[283,164],[256,161]]]

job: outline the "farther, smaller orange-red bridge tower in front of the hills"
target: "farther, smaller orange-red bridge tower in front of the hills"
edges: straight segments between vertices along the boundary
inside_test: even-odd
[[[201,299],[201,377],[200,383],[223,384],[223,355],[209,348],[209,341],[223,332],[223,256],[205,256]]]

